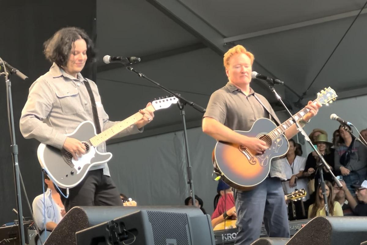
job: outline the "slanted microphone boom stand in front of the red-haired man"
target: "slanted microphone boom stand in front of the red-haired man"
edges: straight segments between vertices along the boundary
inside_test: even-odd
[[[271,83],[269,81],[266,81],[266,82],[268,83],[269,89],[273,92],[273,94],[275,95],[275,97],[277,98],[277,100],[283,105],[283,107],[286,109],[286,111],[288,112],[288,114],[291,116],[293,122],[295,123],[295,125],[296,125],[296,127],[298,129],[298,131],[301,132],[301,134],[303,135],[303,137],[305,138],[305,140],[312,147],[313,151],[315,151],[316,154],[317,154],[317,156],[319,156],[319,159],[321,159],[322,163],[324,164],[324,166],[326,167],[326,169],[328,170],[328,172],[333,176],[333,178],[334,178],[335,182],[337,183],[338,187],[342,187],[342,184],[340,183],[340,181],[337,179],[337,177],[335,177],[334,173],[331,172],[330,166],[326,163],[326,161],[323,158],[323,156],[320,154],[319,151],[317,151],[316,147],[312,144],[312,141],[310,140],[310,138],[306,134],[305,130],[303,130],[303,128],[301,127],[301,125],[299,125],[299,123],[297,122],[297,120],[294,118],[294,116],[292,115],[292,113],[289,111],[289,109],[284,104],[284,102],[281,99],[281,97],[279,96],[279,94],[276,92],[276,90],[274,88],[274,83]],[[325,187],[324,177],[323,177],[322,174],[321,174],[321,183],[320,184],[321,184],[322,194],[323,194],[323,197],[324,197],[325,213],[326,213],[326,216],[329,216],[330,215],[330,212],[329,212],[329,207],[328,207],[328,204],[327,204],[326,187]]]

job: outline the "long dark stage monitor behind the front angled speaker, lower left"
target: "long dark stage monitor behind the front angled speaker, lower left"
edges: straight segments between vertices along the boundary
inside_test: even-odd
[[[203,215],[195,206],[85,206],[69,210],[52,231],[44,245],[76,245],[75,233],[140,210],[186,213],[189,217]]]

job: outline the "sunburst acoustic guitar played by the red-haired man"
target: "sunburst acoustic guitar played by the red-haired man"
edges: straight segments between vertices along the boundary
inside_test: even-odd
[[[335,91],[328,87],[317,93],[317,99],[313,102],[328,105],[336,97]],[[303,118],[308,111],[307,108],[303,108],[293,117],[298,120]],[[283,133],[293,124],[290,118],[277,127],[271,120],[260,118],[255,121],[249,131],[235,130],[244,136],[256,137],[265,141],[268,148],[263,154],[256,155],[255,152],[241,145],[218,141],[212,153],[214,173],[237,190],[251,190],[268,176],[272,159],[287,153],[289,145]]]

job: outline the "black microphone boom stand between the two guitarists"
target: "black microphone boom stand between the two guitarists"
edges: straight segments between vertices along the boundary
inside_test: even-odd
[[[191,107],[193,107],[194,109],[196,109],[197,111],[199,111],[201,113],[204,113],[206,111],[206,109],[204,109],[200,105],[195,104],[192,101],[186,100],[185,98],[183,98],[181,96],[181,94],[174,93],[173,91],[167,89],[166,87],[162,86],[161,84],[159,84],[159,83],[153,81],[152,79],[148,78],[143,73],[135,70],[131,66],[126,65],[126,69],[128,69],[131,72],[136,73],[141,78],[145,78],[146,80],[148,80],[149,82],[151,82],[151,83],[155,84],[156,86],[160,87],[161,89],[163,89],[167,93],[169,93],[172,96],[175,96],[176,98],[178,98],[178,108],[181,111],[182,125],[183,125],[183,135],[184,135],[184,138],[185,138],[185,151],[186,151],[187,176],[188,176],[187,183],[190,186],[192,205],[195,206],[195,192],[194,192],[194,184],[193,184],[193,180],[192,180],[192,167],[191,167],[191,163],[190,163],[189,143],[188,143],[188,139],[187,139],[187,130],[186,130],[185,105],[188,104],[188,105],[190,105]]]

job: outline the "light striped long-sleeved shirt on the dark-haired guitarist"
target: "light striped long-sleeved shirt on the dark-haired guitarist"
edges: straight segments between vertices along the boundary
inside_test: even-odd
[[[80,73],[75,78],[54,63],[50,71],[40,76],[29,88],[28,100],[20,119],[23,137],[35,138],[41,143],[61,149],[67,137],[65,134],[72,133],[81,122],[94,122],[91,100],[84,81],[90,83],[102,131],[118,123],[108,120],[97,85],[92,80],[83,78]],[[134,124],[115,137],[139,132]],[[97,149],[106,152],[106,143],[98,145]],[[110,175],[107,163],[91,167],[90,170],[101,168],[103,174]]]

